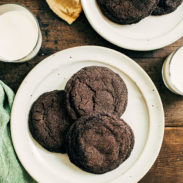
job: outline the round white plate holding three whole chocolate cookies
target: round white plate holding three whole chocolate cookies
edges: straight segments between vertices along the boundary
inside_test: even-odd
[[[38,96],[64,89],[74,73],[90,65],[106,66],[126,82],[129,98],[122,117],[135,134],[131,156],[119,168],[103,175],[84,172],[67,155],[48,152],[33,140],[28,129],[29,110]],[[161,99],[148,75],[127,56],[97,46],[60,51],[38,64],[21,84],[11,113],[11,133],[18,158],[30,175],[43,183],[137,182],[158,156],[163,132]]]

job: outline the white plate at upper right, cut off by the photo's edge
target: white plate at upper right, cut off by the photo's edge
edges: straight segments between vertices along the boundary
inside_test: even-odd
[[[119,25],[102,14],[96,0],[81,2],[85,15],[96,32],[119,47],[138,51],[154,50],[183,36],[183,3],[171,14],[149,16],[132,25]]]

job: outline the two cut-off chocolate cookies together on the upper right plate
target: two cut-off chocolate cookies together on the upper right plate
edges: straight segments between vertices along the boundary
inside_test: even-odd
[[[118,24],[137,23],[149,15],[175,11],[183,0],[97,0],[102,13]]]

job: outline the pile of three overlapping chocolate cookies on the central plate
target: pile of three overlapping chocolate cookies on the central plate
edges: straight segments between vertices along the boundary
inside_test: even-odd
[[[117,168],[131,154],[132,129],[120,116],[128,100],[122,78],[106,67],[85,67],[65,91],[41,95],[32,105],[32,136],[51,152],[68,153],[81,169],[102,174]]]

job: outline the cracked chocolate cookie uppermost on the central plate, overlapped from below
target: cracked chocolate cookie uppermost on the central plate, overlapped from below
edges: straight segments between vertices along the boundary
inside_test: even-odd
[[[81,69],[67,82],[65,91],[67,110],[73,120],[93,112],[121,116],[128,100],[124,81],[106,67]]]

